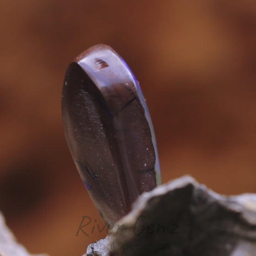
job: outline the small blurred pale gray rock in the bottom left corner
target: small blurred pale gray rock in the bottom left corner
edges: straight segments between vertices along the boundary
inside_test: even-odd
[[[7,228],[4,217],[0,213],[0,256],[32,256],[19,243],[16,242],[13,233]],[[34,255],[35,256],[35,255]],[[37,256],[47,256],[37,255]]]

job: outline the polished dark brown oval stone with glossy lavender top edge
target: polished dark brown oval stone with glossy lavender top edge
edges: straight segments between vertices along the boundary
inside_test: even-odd
[[[112,48],[91,47],[68,66],[62,117],[75,165],[105,223],[115,223],[161,183],[145,99]]]

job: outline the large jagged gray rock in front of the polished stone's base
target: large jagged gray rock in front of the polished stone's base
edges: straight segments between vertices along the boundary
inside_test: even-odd
[[[184,176],[143,193],[88,256],[256,256],[256,194],[223,196]]]

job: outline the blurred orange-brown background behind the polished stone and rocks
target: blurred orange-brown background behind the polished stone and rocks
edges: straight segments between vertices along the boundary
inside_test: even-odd
[[[61,123],[67,65],[94,44],[140,81],[163,182],[256,192],[254,0],[3,0],[0,34],[0,210],[30,252],[80,256],[106,235]]]

